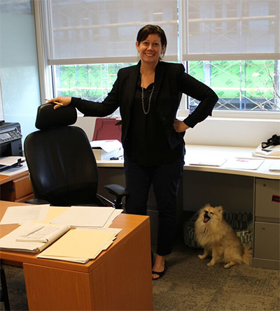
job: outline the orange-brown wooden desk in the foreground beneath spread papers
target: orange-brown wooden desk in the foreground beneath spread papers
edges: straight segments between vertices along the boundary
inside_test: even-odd
[[[0,201],[0,217],[8,206]],[[1,225],[0,236],[17,225]],[[113,245],[86,264],[0,252],[22,263],[29,310],[153,310],[150,223],[146,216],[119,215]],[[71,245],[69,245],[71,247]]]

